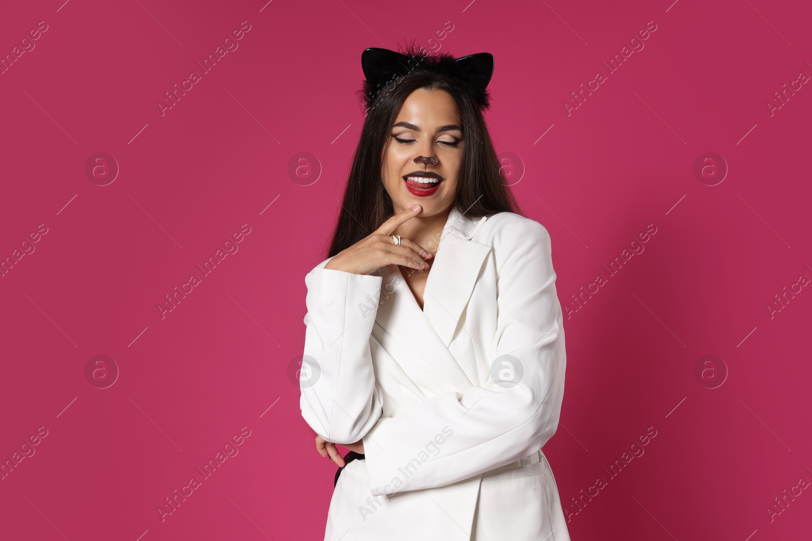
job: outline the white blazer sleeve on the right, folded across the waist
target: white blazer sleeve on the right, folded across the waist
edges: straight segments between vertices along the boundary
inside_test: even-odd
[[[495,260],[504,263],[496,267],[497,329],[489,361],[518,383],[505,387],[491,377],[484,386],[441,393],[379,419],[364,437],[374,496],[469,479],[528,456],[555,434],[566,352],[550,235],[533,220],[499,234]]]

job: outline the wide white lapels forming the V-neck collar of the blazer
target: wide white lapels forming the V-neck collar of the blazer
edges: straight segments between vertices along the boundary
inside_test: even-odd
[[[456,204],[451,207],[425,283],[422,311],[397,265],[378,269],[383,281],[375,321],[410,350],[430,348],[436,354],[447,354],[450,362],[435,363],[434,369],[443,371],[451,384],[462,389],[471,383],[447,348],[460,328],[460,316],[491,250],[473,240],[486,220],[466,217]]]

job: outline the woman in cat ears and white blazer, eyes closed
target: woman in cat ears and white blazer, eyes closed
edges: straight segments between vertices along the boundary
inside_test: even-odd
[[[305,277],[300,408],[342,466],[325,539],[568,540],[541,451],[563,317],[550,235],[514,212],[482,117],[493,57],[361,63],[368,114]]]

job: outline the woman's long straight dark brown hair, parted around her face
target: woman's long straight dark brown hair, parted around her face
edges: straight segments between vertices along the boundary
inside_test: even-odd
[[[432,58],[425,52],[419,54],[413,44],[402,54],[410,58],[415,55]],[[434,54],[434,58],[440,56],[451,55]],[[367,109],[326,257],[332,257],[367,237],[394,214],[391,197],[381,179],[383,155],[391,142],[391,127],[400,108],[409,94],[418,88],[444,90],[451,94],[460,109],[465,141],[456,194],[460,212],[473,218],[502,212],[522,214],[512,191],[503,182],[505,178],[500,172],[479,103],[456,77],[417,67],[399,79],[392,90],[381,89],[374,106]]]

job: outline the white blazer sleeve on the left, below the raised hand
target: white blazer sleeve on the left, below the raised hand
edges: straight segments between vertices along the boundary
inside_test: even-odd
[[[361,440],[381,415],[369,337],[382,277],[324,268],[322,261],[305,277],[307,313],[300,410],[326,441]]]

